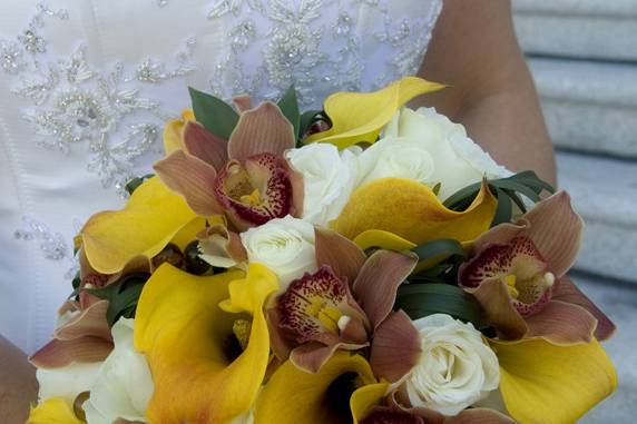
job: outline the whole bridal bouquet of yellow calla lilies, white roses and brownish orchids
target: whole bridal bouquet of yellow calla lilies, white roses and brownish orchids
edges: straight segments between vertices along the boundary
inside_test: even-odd
[[[76,238],[29,423],[572,423],[616,387],[582,220],[412,98],[190,90]]]

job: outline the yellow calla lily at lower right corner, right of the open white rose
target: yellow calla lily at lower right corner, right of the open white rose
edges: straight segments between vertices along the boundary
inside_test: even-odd
[[[556,346],[542,338],[490,341],[500,392],[520,423],[570,424],[612,393],[617,375],[599,343]]]

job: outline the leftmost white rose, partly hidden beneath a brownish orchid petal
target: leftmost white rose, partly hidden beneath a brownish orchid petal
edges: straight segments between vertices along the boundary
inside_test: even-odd
[[[60,368],[38,368],[36,372],[40,385],[38,396],[42,401],[51,397],[62,397],[72,404],[80,393],[90,390],[101,364],[101,362],[89,364],[72,363]]]

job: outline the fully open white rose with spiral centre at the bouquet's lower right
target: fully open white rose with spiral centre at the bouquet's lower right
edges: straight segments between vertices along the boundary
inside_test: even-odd
[[[493,351],[473,325],[435,314],[416,319],[422,355],[405,379],[413,406],[455,415],[498,388]]]

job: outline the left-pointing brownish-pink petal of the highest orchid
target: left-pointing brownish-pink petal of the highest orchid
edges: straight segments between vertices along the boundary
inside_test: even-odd
[[[168,188],[186,199],[197,215],[223,214],[213,190],[217,172],[204,160],[177,150],[157,161],[153,169]]]

